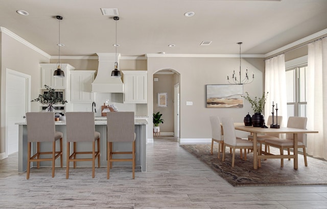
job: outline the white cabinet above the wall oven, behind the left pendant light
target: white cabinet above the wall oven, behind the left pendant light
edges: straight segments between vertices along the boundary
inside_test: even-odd
[[[41,89],[45,89],[44,85],[50,86],[53,89],[66,89],[67,80],[69,80],[69,73],[75,67],[69,64],[61,64],[61,69],[64,71],[64,77],[55,77],[53,73],[57,70],[56,63],[40,63],[41,66]]]

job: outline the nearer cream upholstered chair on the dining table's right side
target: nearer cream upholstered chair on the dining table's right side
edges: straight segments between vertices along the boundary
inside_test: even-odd
[[[306,117],[289,117],[287,121],[287,127],[290,128],[300,128],[307,129],[307,118]],[[267,146],[273,146],[279,148],[281,155],[284,154],[284,149],[287,149],[288,154],[290,155],[290,149],[294,147],[293,134],[286,134],[286,139],[267,139]],[[307,163],[307,135],[298,134],[297,135],[297,147],[303,149],[303,157],[305,159],[305,166],[308,166]],[[291,160],[291,159],[288,159]],[[281,167],[284,166],[284,159],[281,159]]]

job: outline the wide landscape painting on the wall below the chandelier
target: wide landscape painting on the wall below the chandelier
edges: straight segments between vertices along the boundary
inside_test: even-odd
[[[243,85],[206,85],[207,108],[243,108]]]

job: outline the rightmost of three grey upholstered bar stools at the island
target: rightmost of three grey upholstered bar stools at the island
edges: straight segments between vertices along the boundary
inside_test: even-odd
[[[132,162],[132,175],[135,178],[135,132],[134,112],[107,112],[107,179],[110,177],[112,162]],[[113,151],[112,143],[130,142],[131,151]],[[131,158],[116,159],[115,154],[131,154]]]

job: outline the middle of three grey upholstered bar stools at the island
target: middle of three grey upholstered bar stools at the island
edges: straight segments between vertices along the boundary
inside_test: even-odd
[[[100,168],[100,133],[95,130],[94,113],[92,112],[67,112],[66,113],[67,134],[67,158],[66,178],[69,177],[69,163],[79,161],[92,162],[92,178],[95,177],[96,159]],[[91,151],[77,151],[77,142],[92,142]],[[97,150],[96,150],[97,142]],[[73,153],[70,154],[70,143],[73,143]],[[79,154],[91,155],[91,158],[77,158]]]

